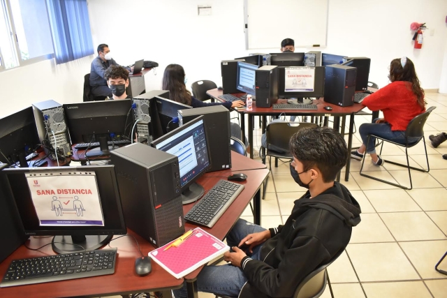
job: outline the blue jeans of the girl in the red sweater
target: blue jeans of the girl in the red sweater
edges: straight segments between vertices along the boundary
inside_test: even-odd
[[[375,137],[369,137],[368,135],[377,135],[378,137],[383,137],[385,140],[390,140],[399,144],[405,144],[405,131],[391,131],[391,126],[388,123],[375,123],[377,119],[374,119],[372,123],[364,123],[360,125],[358,129],[360,133],[360,137],[362,137],[363,144],[366,145],[366,153],[367,154],[375,154],[376,147]],[[409,144],[418,142],[418,137],[410,137]]]

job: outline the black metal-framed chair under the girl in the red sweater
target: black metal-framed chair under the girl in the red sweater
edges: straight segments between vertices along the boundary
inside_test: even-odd
[[[362,169],[363,169],[363,165],[365,163],[365,156],[366,153],[363,154],[363,158],[362,158],[362,167],[360,167],[360,175],[363,177],[368,177],[371,179],[374,179],[376,181],[381,181],[384,182],[386,184],[390,184],[393,186],[397,186],[400,188],[404,188],[404,189],[408,189],[410,190],[411,188],[413,188],[413,183],[411,181],[411,170],[416,170],[419,172],[430,172],[430,165],[428,164],[428,156],[427,156],[427,146],[425,145],[425,137],[424,137],[424,124],[425,121],[427,121],[428,116],[430,115],[430,113],[436,109],[436,107],[429,107],[425,112],[423,112],[422,114],[419,114],[418,116],[414,117],[413,119],[411,119],[410,123],[408,124],[408,126],[406,127],[406,131],[405,131],[405,144],[399,144],[390,140],[386,140],[383,139],[383,137],[378,137],[376,135],[368,135],[368,141],[369,142],[369,138],[370,137],[376,137],[376,140],[382,140],[382,144],[381,144],[381,148],[380,148],[380,153],[379,155],[382,153],[382,149],[383,149],[383,142],[389,142],[391,144],[395,144],[397,146],[400,147],[405,147],[405,155],[406,155],[406,165],[402,164],[402,163],[395,163],[394,161],[385,161],[386,163],[391,163],[392,165],[399,165],[400,167],[406,167],[408,169],[408,174],[409,174],[409,178],[410,178],[410,188],[407,188],[406,186],[403,186],[401,184],[395,184],[393,182],[390,181],[386,181],[383,179],[379,179],[376,177],[372,177],[369,176],[367,174],[362,173]],[[419,140],[417,142],[413,142],[413,143],[409,143],[408,139],[409,137],[418,137]],[[418,167],[410,167],[410,163],[409,163],[409,159],[408,159],[408,149],[411,147],[416,146],[416,144],[418,144],[420,142],[420,140],[423,140],[424,143],[424,149],[425,149],[425,158],[427,159],[427,170],[424,170],[423,168],[420,169]]]

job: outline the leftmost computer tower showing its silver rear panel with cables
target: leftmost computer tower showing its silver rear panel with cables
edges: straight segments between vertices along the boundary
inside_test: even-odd
[[[66,125],[64,107],[54,100],[33,103],[34,119],[36,119],[39,140],[45,146],[45,154],[49,154],[49,145],[64,156],[73,155],[70,136]],[[56,156],[50,153],[50,158],[56,161]]]

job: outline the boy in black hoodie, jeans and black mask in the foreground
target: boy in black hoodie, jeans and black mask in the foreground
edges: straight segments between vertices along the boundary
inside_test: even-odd
[[[293,135],[290,147],[291,175],[309,191],[295,201],[291,216],[278,228],[237,221],[227,237],[234,252],[224,255],[231,265],[205,267],[197,278],[199,291],[240,298],[291,297],[300,281],[348,245],[352,227],[360,223],[360,206],[334,181],[349,156],[344,138],[332,128],[305,128]],[[237,248],[242,244],[249,248]],[[184,288],[174,294],[186,297]]]

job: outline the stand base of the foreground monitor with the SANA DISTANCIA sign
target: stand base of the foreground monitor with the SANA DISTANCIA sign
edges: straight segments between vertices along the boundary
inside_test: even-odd
[[[93,251],[108,244],[112,237],[113,235],[54,236],[51,246],[55,253],[75,253],[84,251],[80,246],[85,248],[85,251]]]

